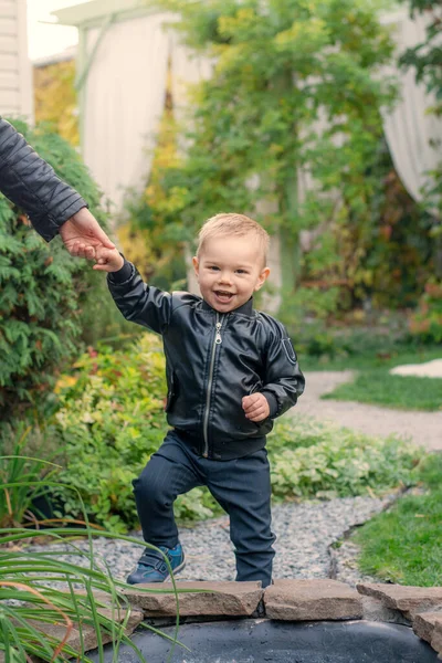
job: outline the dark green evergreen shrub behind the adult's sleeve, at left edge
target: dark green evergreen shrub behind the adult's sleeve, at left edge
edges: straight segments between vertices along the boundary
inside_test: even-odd
[[[101,212],[99,192],[76,151],[43,129],[14,123],[57,175]],[[0,194],[0,420],[38,404],[60,368],[78,354],[81,307],[96,274],[71,259],[60,239],[48,244]],[[91,270],[92,272],[92,270]]]

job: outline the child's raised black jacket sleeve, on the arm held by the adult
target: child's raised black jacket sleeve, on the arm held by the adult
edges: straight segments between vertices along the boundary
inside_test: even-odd
[[[172,308],[169,293],[144,283],[135,265],[126,260],[118,272],[107,275],[107,285],[115,304],[127,320],[164,334]]]

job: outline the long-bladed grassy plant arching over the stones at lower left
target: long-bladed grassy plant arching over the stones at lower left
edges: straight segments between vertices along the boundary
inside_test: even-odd
[[[21,456],[0,456],[2,465],[25,466],[35,463],[35,459]],[[44,462],[40,461],[40,464]],[[35,469],[35,465],[34,465]],[[12,472],[10,473],[13,474]],[[48,491],[56,488],[56,482],[49,481],[14,481],[0,485],[2,498],[7,496],[7,504],[12,508],[10,496],[21,495],[25,490]],[[65,487],[66,490],[66,487]],[[75,488],[73,488],[74,492]],[[77,502],[83,507],[80,493]],[[125,582],[113,578],[103,560],[94,557],[93,537],[124,538],[145,547],[146,544],[130,537],[117,537],[115,533],[103,528],[91,527],[87,514],[82,508],[84,520],[78,530],[78,520],[61,522],[62,527],[42,529],[36,518],[32,527],[18,525],[0,528],[0,655],[4,655],[6,663],[21,663],[38,656],[39,661],[57,663],[75,659],[87,663],[91,659],[87,651],[97,648],[103,660],[103,646],[113,642],[113,661],[118,661],[120,643],[128,644],[141,662],[145,657],[130,641],[126,628],[131,614],[130,603],[122,589],[127,589]],[[13,513],[10,511],[10,516]],[[14,520],[14,517],[11,517]],[[75,537],[87,537],[88,550],[81,550],[75,546]],[[63,551],[45,551],[23,548],[23,543],[29,546],[31,541],[63,543],[69,551],[70,560],[63,559]],[[154,548],[154,547],[152,547]],[[78,562],[72,561],[77,556]],[[171,639],[149,624],[141,623],[146,629],[158,633],[178,643],[179,603],[177,587],[169,560],[165,556],[166,565],[171,575],[172,587],[177,600],[177,621],[175,636]],[[159,591],[139,589],[140,592]],[[186,590],[182,590],[186,591]],[[94,643],[91,644],[91,628],[95,633]],[[73,648],[71,638],[80,642],[81,651]],[[185,645],[182,645],[185,646]],[[170,652],[172,654],[173,648]]]

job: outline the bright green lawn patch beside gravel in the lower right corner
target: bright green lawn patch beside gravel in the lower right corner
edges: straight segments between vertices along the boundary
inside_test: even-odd
[[[424,494],[402,497],[356,533],[362,572],[400,585],[442,586],[442,454],[428,456],[422,480]]]

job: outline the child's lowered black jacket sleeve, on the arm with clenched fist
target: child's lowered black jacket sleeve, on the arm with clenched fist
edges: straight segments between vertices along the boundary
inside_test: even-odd
[[[272,318],[265,357],[265,381],[260,389],[270,406],[270,418],[284,414],[303,393],[305,378],[285,327]]]

